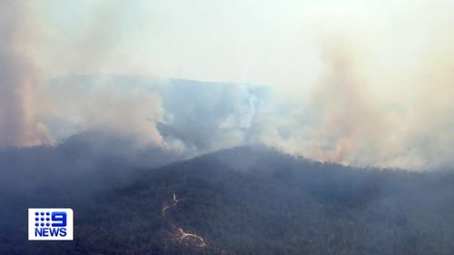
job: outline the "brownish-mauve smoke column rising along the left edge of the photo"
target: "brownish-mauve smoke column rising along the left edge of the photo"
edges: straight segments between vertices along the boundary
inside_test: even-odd
[[[0,148],[48,143],[33,112],[41,76],[25,51],[35,30],[32,15],[23,1],[0,5]]]

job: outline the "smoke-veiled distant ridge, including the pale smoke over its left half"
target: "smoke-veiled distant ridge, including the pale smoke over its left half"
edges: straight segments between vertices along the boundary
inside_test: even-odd
[[[257,111],[269,89],[136,76],[67,76],[44,90],[45,123],[55,140],[111,130],[189,154],[260,142]]]

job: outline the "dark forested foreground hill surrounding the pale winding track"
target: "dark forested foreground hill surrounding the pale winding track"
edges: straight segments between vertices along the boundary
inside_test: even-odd
[[[41,189],[45,198],[2,197],[0,216],[9,218],[1,221],[0,254],[454,253],[449,172],[354,169],[236,148],[115,183],[92,193],[74,183],[70,193]],[[175,239],[161,213],[173,193],[181,202],[168,217],[207,247]],[[33,206],[73,207],[74,241],[27,241]]]

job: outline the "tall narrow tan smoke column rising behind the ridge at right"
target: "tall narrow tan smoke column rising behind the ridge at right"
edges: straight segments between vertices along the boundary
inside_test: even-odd
[[[379,142],[371,137],[389,133],[385,116],[366,90],[361,59],[345,45],[332,45],[324,55],[321,81],[310,98],[314,119],[311,157],[349,163],[355,152]],[[313,116],[316,114],[316,116]]]

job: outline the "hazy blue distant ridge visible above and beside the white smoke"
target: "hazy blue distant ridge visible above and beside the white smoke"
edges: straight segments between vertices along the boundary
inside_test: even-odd
[[[243,133],[242,142],[256,142],[254,135],[258,123],[254,118],[269,103],[271,95],[270,87],[250,83],[212,83],[145,76],[72,75],[54,78],[49,83],[45,92],[47,96],[74,98],[73,102],[60,102],[55,98],[52,102],[58,102],[62,108],[68,104],[72,110],[84,108],[77,101],[82,101],[80,104],[98,102],[101,97],[122,103],[122,100],[154,95],[157,101],[154,108],[160,108],[162,114],[159,117],[143,117],[143,121],[156,124],[166,141],[183,142],[187,148],[202,152],[212,151],[218,146],[228,147],[224,144],[232,140],[232,133],[237,132]],[[47,118],[45,124],[54,139],[64,139],[81,131],[78,120],[65,118],[65,114]]]

